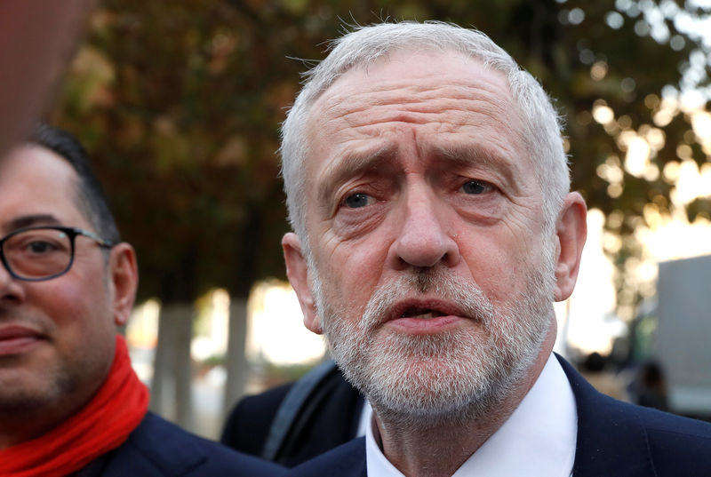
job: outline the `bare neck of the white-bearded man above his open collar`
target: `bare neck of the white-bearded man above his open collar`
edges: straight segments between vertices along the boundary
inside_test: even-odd
[[[416,424],[379,412],[373,405],[383,454],[407,477],[451,477],[506,422],[538,379],[550,350],[533,362],[512,393],[486,417],[457,418],[448,423]]]

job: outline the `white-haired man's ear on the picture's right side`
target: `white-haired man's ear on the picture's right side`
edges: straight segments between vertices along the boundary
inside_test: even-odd
[[[577,192],[566,195],[555,229],[558,239],[555,301],[563,301],[570,297],[578,280],[580,256],[587,238],[586,217],[587,207],[582,196]]]

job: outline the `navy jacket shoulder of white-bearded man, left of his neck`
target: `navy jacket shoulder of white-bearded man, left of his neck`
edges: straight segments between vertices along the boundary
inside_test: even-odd
[[[359,437],[294,467],[289,477],[365,477],[365,438]]]

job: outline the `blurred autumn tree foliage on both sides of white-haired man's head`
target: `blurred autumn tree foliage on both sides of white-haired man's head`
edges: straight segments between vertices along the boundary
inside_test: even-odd
[[[629,238],[645,204],[669,210],[667,163],[701,165],[711,153],[678,101],[708,82],[702,38],[683,29],[699,15],[708,12],[673,0],[106,0],[53,122],[89,149],[138,250],[142,298],[189,305],[220,286],[244,307],[253,282],[284,275],[275,152],[304,68],[291,59],[322,59],[344,23],[445,20],[486,32],[557,98],[573,187]],[[686,210],[708,218],[711,203]],[[624,269],[638,250],[621,243],[610,251]],[[242,320],[233,333],[244,334]]]

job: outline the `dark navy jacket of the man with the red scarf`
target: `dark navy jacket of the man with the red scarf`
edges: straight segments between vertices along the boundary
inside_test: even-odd
[[[244,456],[148,413],[128,440],[77,477],[279,477],[281,466]]]

